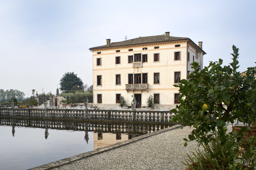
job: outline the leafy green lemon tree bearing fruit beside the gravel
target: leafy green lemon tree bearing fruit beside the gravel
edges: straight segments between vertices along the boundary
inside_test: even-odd
[[[220,135],[225,135],[226,124],[237,118],[244,123],[255,121],[256,70],[249,67],[243,76],[237,71],[238,50],[233,46],[233,62],[229,66],[222,67],[223,60],[219,59],[200,71],[199,64],[192,63],[195,71],[188,76],[189,81],[183,79],[174,85],[179,87],[181,104],[171,110],[176,115],[170,121],[195,127],[188,136],[190,141],[208,143],[216,127]],[[238,134],[245,130],[242,128]]]

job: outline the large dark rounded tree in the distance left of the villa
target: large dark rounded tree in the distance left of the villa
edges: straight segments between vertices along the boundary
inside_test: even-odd
[[[63,92],[83,90],[83,82],[74,72],[66,72],[63,78],[60,79],[60,90]]]

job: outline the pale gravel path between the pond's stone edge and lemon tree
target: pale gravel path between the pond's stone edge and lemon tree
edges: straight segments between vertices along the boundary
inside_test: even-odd
[[[174,129],[54,170],[184,170],[181,161],[198,148],[196,141],[183,145],[191,131]]]

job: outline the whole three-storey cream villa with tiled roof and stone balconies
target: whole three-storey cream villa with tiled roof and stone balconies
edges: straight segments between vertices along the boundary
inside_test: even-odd
[[[186,37],[163,35],[139,37],[90,48],[93,52],[93,105],[116,107],[124,96],[127,106],[136,98],[136,108],[147,106],[152,95],[157,107],[173,108],[180,95],[173,85],[203,67],[202,42],[197,46]]]

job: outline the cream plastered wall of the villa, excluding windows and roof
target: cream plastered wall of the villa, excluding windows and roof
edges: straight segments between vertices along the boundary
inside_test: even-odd
[[[175,45],[180,44],[180,47]],[[142,50],[147,47],[147,50]],[[159,49],[154,49],[159,47]],[[192,47],[191,47],[192,48]],[[128,51],[133,49],[133,51]],[[120,50],[120,52],[116,52]],[[193,48],[190,49],[193,53]],[[195,50],[194,50],[195,51]],[[157,107],[176,107],[174,94],[178,93],[178,88],[174,87],[174,72],[181,72],[181,79],[187,78],[187,42],[174,43],[151,43],[137,47],[114,48],[112,50],[93,51],[93,103],[97,107],[115,107],[116,94],[124,96],[127,106],[131,106],[134,94],[142,94],[142,107],[147,106],[146,101],[151,94],[159,93],[159,104]],[[181,52],[181,60],[174,60],[174,52]],[[159,53],[160,62],[154,62],[154,54]],[[142,63],[142,68],[133,68],[132,63],[128,63],[128,56],[134,54],[147,54],[147,62]],[[116,56],[121,57],[121,64],[115,64]],[[97,58],[101,58],[101,66],[97,66]],[[197,60],[195,60],[197,61]],[[191,61],[192,62],[192,61]],[[154,84],[154,73],[160,73],[160,84]],[[128,84],[128,74],[148,73],[149,90],[131,91],[125,90]],[[121,75],[121,84],[116,85],[116,74]],[[102,86],[97,86],[97,75],[102,75]],[[97,103],[97,94],[102,94],[102,103]]]

